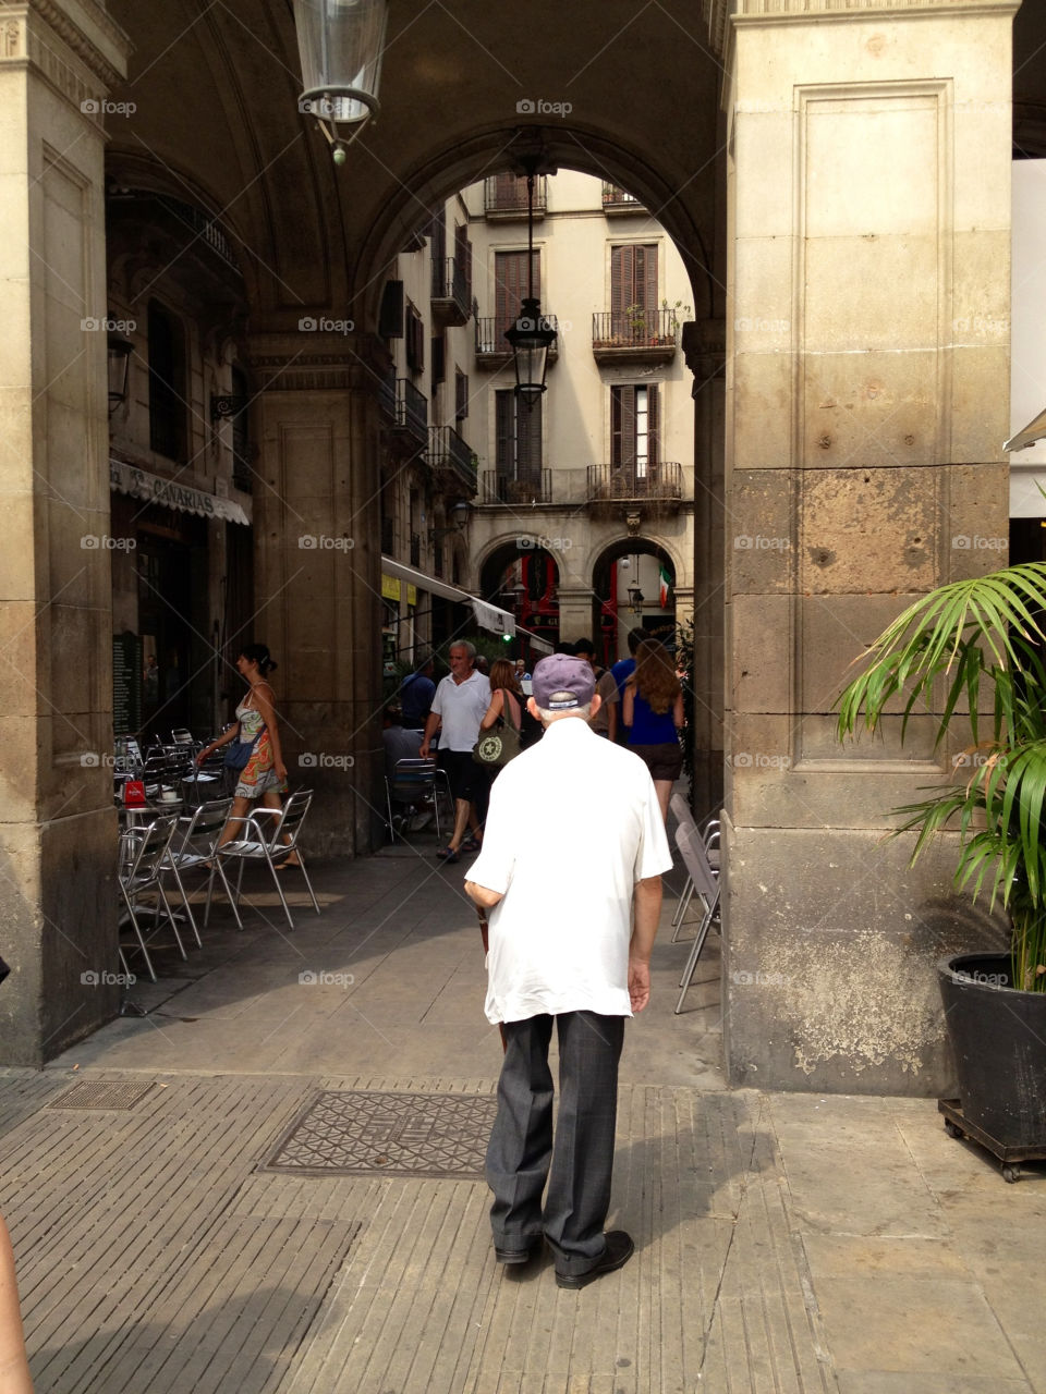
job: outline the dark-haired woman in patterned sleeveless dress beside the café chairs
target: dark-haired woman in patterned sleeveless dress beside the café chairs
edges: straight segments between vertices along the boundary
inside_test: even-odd
[[[233,807],[218,839],[219,848],[238,836],[252,803],[258,802],[264,809],[279,809],[280,795],[287,792],[287,767],[280,751],[273,691],[266,680],[276,664],[265,644],[244,644],[236,666],[250,683],[247,696],[236,708],[236,725],[197,756],[197,764],[202,765],[208,756],[225,746],[225,767],[238,775]],[[280,867],[298,864],[297,853],[291,853]]]

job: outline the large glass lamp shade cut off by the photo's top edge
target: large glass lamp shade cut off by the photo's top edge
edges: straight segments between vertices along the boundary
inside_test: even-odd
[[[378,110],[386,20],[385,0],[294,0],[303,112],[353,124]]]

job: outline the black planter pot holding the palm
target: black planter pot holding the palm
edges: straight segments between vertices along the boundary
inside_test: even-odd
[[[1010,955],[937,963],[964,1117],[1004,1147],[1046,1149],[1046,993],[1010,986]]]

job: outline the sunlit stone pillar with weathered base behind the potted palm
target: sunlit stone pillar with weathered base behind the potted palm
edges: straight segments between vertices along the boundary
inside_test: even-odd
[[[967,947],[947,848],[890,809],[939,778],[915,722],[849,749],[851,659],[1007,534],[1015,0],[742,0],[727,325],[728,1071],[932,1094],[933,962]]]

